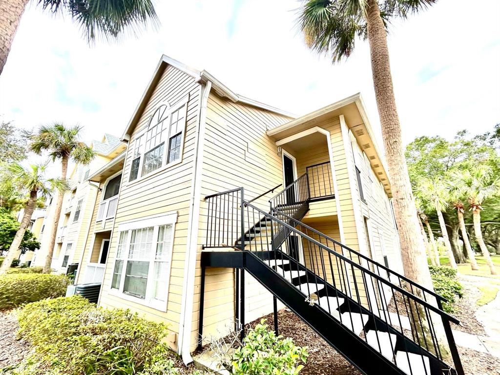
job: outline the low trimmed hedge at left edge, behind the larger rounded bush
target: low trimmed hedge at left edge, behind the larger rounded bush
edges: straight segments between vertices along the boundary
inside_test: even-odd
[[[44,298],[64,295],[69,280],[48,273],[14,273],[0,276],[0,311]]]

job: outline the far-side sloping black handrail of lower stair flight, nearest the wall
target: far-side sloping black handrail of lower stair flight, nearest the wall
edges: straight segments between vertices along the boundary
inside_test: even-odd
[[[300,224],[301,226],[303,226],[303,227],[307,228],[307,230],[309,230],[309,231],[311,231],[311,232],[313,232],[313,233],[317,234],[319,237],[322,237],[322,238],[324,238],[324,239],[326,239],[326,240],[328,240],[328,241],[331,241],[332,243],[335,243],[336,245],[338,245],[338,246],[342,247],[342,249],[345,249],[345,250],[349,251],[349,254],[350,254],[350,255],[352,255],[352,254],[353,254],[353,255],[355,255],[355,256],[357,256],[357,257],[358,257],[358,262],[359,262],[359,263],[361,263],[359,258],[362,258],[363,260],[365,260],[366,262],[370,263],[371,265],[373,265],[374,267],[376,267],[376,268],[377,268],[377,271],[378,271],[377,273],[378,273],[378,275],[379,275],[379,276],[380,276],[380,268],[381,268],[381,269],[383,269],[385,272],[387,272],[387,273],[389,273],[389,274],[392,274],[392,275],[394,275],[395,277],[397,277],[397,278],[399,279],[399,286],[401,286],[401,280],[403,280],[403,281],[407,282],[407,283],[410,285],[410,288],[412,288],[412,287],[416,287],[416,288],[418,288],[418,289],[422,290],[422,292],[423,292],[423,293],[422,293],[422,296],[424,297],[424,300],[425,300],[425,293],[427,293],[427,294],[430,294],[430,295],[432,295],[433,297],[435,297],[435,298],[437,298],[437,299],[440,299],[440,300],[441,300],[441,301],[443,301],[443,302],[447,302],[447,301],[448,301],[448,300],[447,300],[446,298],[444,298],[442,295],[439,295],[439,294],[437,294],[436,292],[434,292],[434,291],[432,291],[432,290],[430,290],[430,289],[428,289],[428,288],[426,288],[426,287],[424,287],[424,286],[421,286],[421,285],[417,284],[416,282],[414,282],[414,281],[412,281],[411,279],[409,279],[409,278],[407,278],[407,277],[403,276],[402,274],[399,274],[399,273],[397,273],[397,272],[394,272],[392,269],[390,269],[390,268],[386,267],[385,265],[383,265],[383,264],[381,264],[381,263],[378,263],[377,261],[375,261],[375,260],[371,259],[369,256],[363,255],[363,254],[361,254],[359,251],[356,251],[356,250],[351,249],[350,247],[348,247],[348,246],[344,245],[343,243],[341,243],[341,242],[337,241],[336,239],[331,238],[331,237],[327,236],[326,234],[324,234],[324,233],[320,232],[319,230],[316,230],[316,229],[314,229],[314,228],[310,227],[309,225],[304,224],[303,222],[301,222],[301,221],[298,221],[298,220],[294,219],[293,217],[291,217],[291,216],[287,215],[286,213],[281,212],[281,211],[279,211],[279,210],[278,210],[278,209],[276,209],[276,208],[271,208],[271,213],[272,213],[272,211],[274,211],[274,212],[278,213],[279,215],[284,216],[284,217],[286,218],[286,220],[291,221],[291,222],[294,222],[295,224]],[[351,258],[351,259],[352,259],[352,258]],[[373,267],[373,269],[374,269],[374,267]],[[412,293],[414,294],[415,292],[412,290]]]

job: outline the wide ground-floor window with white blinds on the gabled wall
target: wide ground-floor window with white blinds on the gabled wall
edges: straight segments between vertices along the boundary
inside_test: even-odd
[[[111,289],[166,311],[176,213],[118,226]]]

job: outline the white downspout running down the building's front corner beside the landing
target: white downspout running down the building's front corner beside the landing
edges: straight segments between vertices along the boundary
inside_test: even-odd
[[[189,223],[186,238],[186,258],[184,262],[184,279],[182,285],[182,301],[180,306],[180,321],[178,332],[177,353],[182,356],[184,364],[192,362],[190,338],[192,330],[192,310],[194,294],[194,273],[196,253],[198,250],[199,207],[201,195],[201,171],[203,168],[203,144],[205,134],[206,106],[211,82],[201,85],[201,102],[199,111],[196,151],[194,155],[194,170],[191,179],[191,202],[189,205]]]

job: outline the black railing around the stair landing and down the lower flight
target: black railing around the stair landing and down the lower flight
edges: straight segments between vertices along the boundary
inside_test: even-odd
[[[436,333],[442,325],[455,371],[458,375],[463,374],[450,327],[450,322],[459,321],[442,310],[443,298],[438,294],[402,275],[397,275],[399,282],[394,284],[390,276],[386,278],[380,274],[378,267],[390,271],[390,274],[396,274],[395,272],[374,261],[370,264],[377,266],[377,271],[372,271],[361,264],[361,259],[369,258],[366,259],[358,252],[303,224],[291,214],[285,214],[275,208],[271,208],[270,213],[263,211],[244,200],[243,188],[212,194],[207,200],[207,244],[204,247],[231,244],[230,247],[251,252],[306,296],[316,293],[318,299],[315,304],[336,316],[344,325],[348,325],[350,319],[350,324],[354,327],[352,312],[366,315],[371,319],[371,323],[363,325],[364,334],[360,335],[359,339],[368,343],[366,333],[374,330],[378,342],[378,348],[374,349],[383,355],[378,335],[380,332],[396,334],[399,348],[397,350],[406,352],[410,372],[412,364],[408,352],[422,355],[423,368],[427,375],[424,356],[438,361],[433,363],[439,363],[443,370],[450,368],[442,355],[441,344],[445,341],[441,341]],[[224,210],[227,212],[223,212]],[[217,231],[218,234],[209,234],[211,231]],[[282,234],[279,241],[276,240],[276,233]],[[233,242],[233,238],[240,240]],[[303,259],[299,259],[299,248],[302,249]],[[348,256],[343,254],[344,249],[348,251]],[[410,285],[409,290],[405,289],[401,280]],[[427,301],[426,293],[427,296],[432,295],[435,298],[435,305]],[[321,299],[323,296],[327,298]],[[335,298],[336,303],[333,302]],[[395,313],[388,312],[389,300],[394,302],[392,308],[395,308]],[[344,312],[349,312],[349,315],[343,316]],[[406,312],[406,315],[403,312]],[[404,316],[410,321],[409,333],[401,323]],[[439,317],[437,321],[436,317]],[[390,334],[389,340],[392,340]],[[395,347],[394,345],[392,347]],[[393,354],[392,362],[396,363],[395,351]]]

